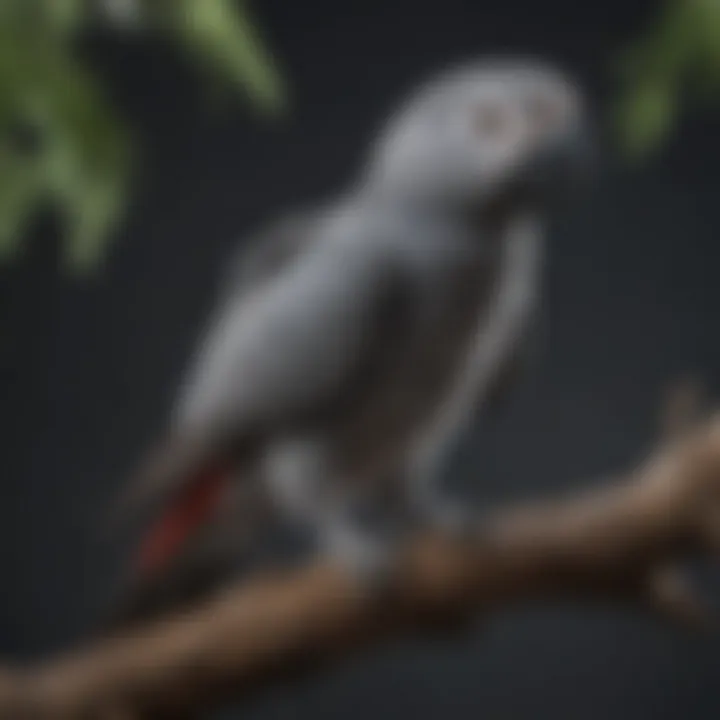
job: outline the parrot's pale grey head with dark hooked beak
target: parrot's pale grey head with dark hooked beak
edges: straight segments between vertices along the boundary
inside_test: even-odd
[[[375,143],[384,196],[482,208],[562,198],[587,176],[591,133],[577,86],[533,61],[452,69],[414,93]]]

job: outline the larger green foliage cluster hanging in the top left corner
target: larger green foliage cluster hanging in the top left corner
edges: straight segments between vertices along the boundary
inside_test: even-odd
[[[102,256],[125,205],[131,143],[75,55],[80,33],[106,23],[175,39],[266,111],[282,107],[272,58],[245,4],[233,0],[0,0],[0,256],[38,210],[63,220],[73,270]]]

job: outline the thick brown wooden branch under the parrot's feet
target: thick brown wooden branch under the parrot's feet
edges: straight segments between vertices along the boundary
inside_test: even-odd
[[[695,622],[703,613],[676,567],[719,545],[720,419],[683,428],[622,481],[500,512],[475,543],[416,539],[381,602],[329,563],[256,578],[191,614],[0,675],[0,717],[177,717],[541,598],[621,600]]]

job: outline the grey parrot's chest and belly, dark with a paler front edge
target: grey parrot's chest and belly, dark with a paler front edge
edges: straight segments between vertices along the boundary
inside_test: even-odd
[[[522,333],[535,297],[534,241],[519,232],[496,251],[434,269],[413,327],[394,340],[394,362],[356,407],[346,441],[338,438],[341,474],[382,481],[443,453]]]

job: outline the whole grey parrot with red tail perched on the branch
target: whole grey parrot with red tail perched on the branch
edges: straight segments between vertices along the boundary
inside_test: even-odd
[[[394,545],[358,519],[368,499],[413,527],[472,522],[443,467],[525,353],[543,225],[588,141],[560,71],[466,63],[402,103],[346,192],[245,245],[131,484],[153,517],[121,622],[222,582],[263,521],[256,496],[362,577]]]

